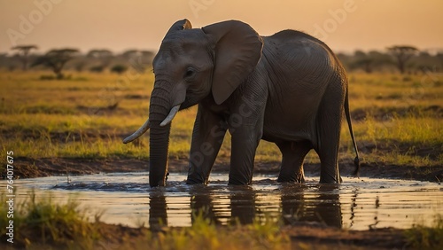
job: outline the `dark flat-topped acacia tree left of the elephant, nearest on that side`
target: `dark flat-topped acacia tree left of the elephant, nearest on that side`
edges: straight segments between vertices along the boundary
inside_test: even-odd
[[[76,49],[51,50],[44,56],[35,59],[32,66],[42,65],[51,67],[52,72],[57,75],[57,79],[62,79],[63,74],[61,71],[63,67],[69,60],[74,59],[78,52]]]

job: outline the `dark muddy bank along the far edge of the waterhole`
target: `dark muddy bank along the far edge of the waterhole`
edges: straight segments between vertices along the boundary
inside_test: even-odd
[[[276,174],[280,162],[257,162],[255,174]],[[319,176],[320,164],[305,164],[307,176]],[[16,178],[34,178],[42,176],[78,176],[97,173],[140,172],[149,169],[148,160],[137,159],[66,159],[66,158],[17,158],[14,160],[14,175]],[[354,164],[340,163],[342,176],[353,176]],[[169,160],[169,172],[186,173],[187,160]],[[214,165],[213,172],[228,172],[229,163],[218,162]],[[385,163],[361,163],[360,176],[383,177],[396,179],[411,179],[418,181],[441,182],[443,181],[443,166],[411,167],[397,166]]]

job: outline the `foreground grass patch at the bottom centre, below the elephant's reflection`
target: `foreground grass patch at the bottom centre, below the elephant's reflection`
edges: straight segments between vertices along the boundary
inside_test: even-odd
[[[198,213],[191,227],[159,233],[147,242],[151,249],[290,249],[289,236],[281,232],[281,225],[270,218],[256,219],[252,224],[220,227]]]

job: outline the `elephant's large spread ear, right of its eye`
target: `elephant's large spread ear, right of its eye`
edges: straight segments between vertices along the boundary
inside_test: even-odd
[[[213,96],[220,105],[245,82],[261,57],[263,41],[253,27],[229,20],[202,27],[215,42]]]

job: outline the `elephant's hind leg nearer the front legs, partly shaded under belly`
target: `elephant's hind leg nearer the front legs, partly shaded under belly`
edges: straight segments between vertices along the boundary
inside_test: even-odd
[[[307,152],[312,149],[308,141],[284,142],[277,144],[283,154],[282,168],[277,182],[305,182],[305,173],[303,171],[303,161]]]

